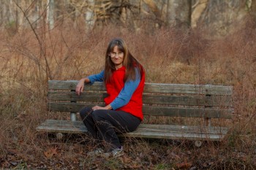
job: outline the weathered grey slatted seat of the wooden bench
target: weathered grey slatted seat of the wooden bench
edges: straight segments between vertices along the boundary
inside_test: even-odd
[[[221,140],[227,134],[226,127],[197,127],[183,125],[148,125],[140,124],[134,132],[122,134],[126,137],[156,138],[156,139],[201,139]],[[82,121],[46,120],[37,127],[37,131],[48,133],[85,134],[86,126]]]

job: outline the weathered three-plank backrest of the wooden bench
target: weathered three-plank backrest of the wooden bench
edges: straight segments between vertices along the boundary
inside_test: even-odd
[[[79,112],[84,106],[104,105],[104,84],[85,85],[77,96],[78,81],[48,81],[48,110]],[[231,118],[232,86],[146,83],[143,114],[170,117]]]

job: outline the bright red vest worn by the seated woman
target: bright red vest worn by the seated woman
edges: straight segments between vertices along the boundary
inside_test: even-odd
[[[121,89],[124,88],[124,76],[125,76],[125,67],[121,67],[112,74],[112,80],[106,84],[106,89],[108,97],[104,99],[105,104],[110,104],[120,93]],[[143,120],[142,112],[142,95],[145,84],[145,73],[143,72],[140,78],[140,84],[135,92],[132,94],[132,98],[129,100],[129,103],[120,107],[116,110],[121,110],[124,112],[129,112],[130,114],[139,117],[140,120]]]

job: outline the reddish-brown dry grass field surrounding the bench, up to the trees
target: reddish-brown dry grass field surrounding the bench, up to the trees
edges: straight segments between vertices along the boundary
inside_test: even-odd
[[[148,34],[104,28],[86,34],[61,26],[14,36],[0,33],[0,165],[12,169],[255,169],[256,23],[223,39],[203,29],[162,29]],[[42,36],[43,35],[43,36]],[[124,140],[118,159],[87,158],[86,136],[58,141],[35,128],[43,120],[69,117],[47,112],[47,80],[79,80],[103,68],[110,39],[121,36],[146,69],[146,82],[233,85],[235,117],[224,142],[195,148],[187,141]],[[52,155],[47,155],[47,153]]]

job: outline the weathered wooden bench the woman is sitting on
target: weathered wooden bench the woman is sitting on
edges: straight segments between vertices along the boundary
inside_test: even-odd
[[[68,120],[46,120],[37,131],[84,134],[78,116],[84,106],[104,105],[107,96],[102,82],[86,84],[80,96],[78,81],[48,81],[48,110],[70,112]],[[146,83],[143,93],[145,120],[123,136],[155,139],[221,141],[233,115],[232,86]],[[78,120],[77,120],[78,117]],[[154,123],[152,123],[154,122]]]

